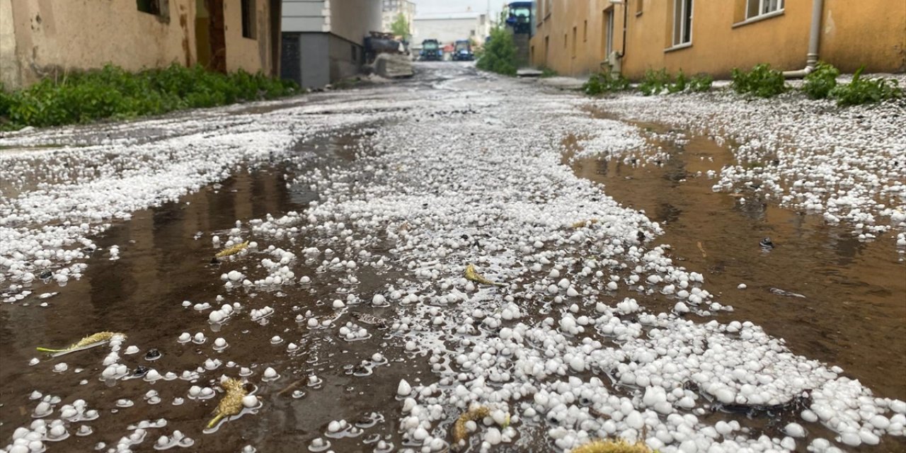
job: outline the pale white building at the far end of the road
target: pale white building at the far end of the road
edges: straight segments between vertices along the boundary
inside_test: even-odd
[[[441,44],[454,43],[460,39],[474,39],[475,43],[485,43],[491,33],[491,24],[487,14],[457,13],[420,15],[415,18],[415,30],[412,33],[412,46],[419,48],[426,39],[436,39]]]

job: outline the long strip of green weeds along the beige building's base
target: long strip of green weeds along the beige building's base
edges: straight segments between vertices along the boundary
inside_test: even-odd
[[[201,66],[173,64],[133,73],[107,65],[66,74],[59,81],[44,79],[17,92],[0,91],[0,123],[5,122],[5,128],[22,128],[125,119],[272,99],[297,91],[294,82],[274,80],[260,72],[221,74]]]

